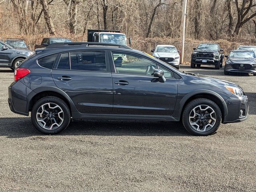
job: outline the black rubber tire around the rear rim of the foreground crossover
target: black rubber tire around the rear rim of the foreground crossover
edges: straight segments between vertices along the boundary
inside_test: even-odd
[[[57,128],[54,128],[52,130],[51,129],[47,129],[47,128],[43,128],[43,126],[41,126],[39,124],[38,120],[37,120],[37,112],[38,112],[38,110],[40,110],[42,105],[44,105],[44,104],[46,105],[47,103],[51,103],[52,105],[58,105],[57,109],[61,109],[62,110],[62,112],[60,114],[60,115],[62,115],[62,119],[63,119],[63,120],[60,120],[60,121],[62,121],[62,123],[60,124],[60,126],[58,126]],[[54,115],[56,115],[56,114],[54,114]],[[59,114],[58,114],[58,116],[59,116]],[[44,115],[44,117],[46,117],[46,116]],[[55,117],[56,117],[56,119],[58,119],[57,115]],[[49,117],[48,117],[48,119],[49,119]],[[58,97],[54,97],[54,96],[44,97],[44,98],[38,100],[34,104],[34,106],[32,108],[32,111],[31,111],[31,120],[32,120],[32,123],[34,124],[34,126],[36,127],[36,129],[38,131],[40,131],[40,132],[42,132],[44,134],[57,134],[57,133],[62,132],[63,130],[65,130],[67,128],[67,126],[68,126],[68,124],[70,122],[70,110],[69,110],[68,105],[66,104],[66,102],[64,102],[62,99],[60,99]],[[41,123],[41,124],[43,124],[43,123]],[[46,124],[44,124],[44,126],[45,125]]]

